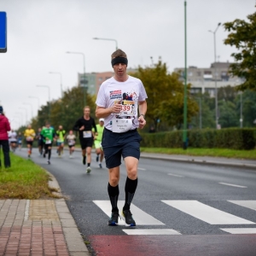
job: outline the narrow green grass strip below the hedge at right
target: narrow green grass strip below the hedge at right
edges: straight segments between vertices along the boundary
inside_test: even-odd
[[[227,148],[141,148],[141,152],[159,154],[186,154],[256,160],[256,149],[235,150]]]

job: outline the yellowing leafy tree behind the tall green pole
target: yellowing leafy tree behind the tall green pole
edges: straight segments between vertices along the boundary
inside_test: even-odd
[[[132,75],[143,81],[148,95],[147,119],[154,123],[155,131],[160,121],[166,122],[169,126],[177,125],[177,128],[181,128],[184,85],[179,80],[180,75],[169,74],[166,63],[160,60],[151,67],[138,67],[137,73]],[[190,85],[188,85],[189,89]],[[188,121],[197,112],[196,102],[188,97]]]

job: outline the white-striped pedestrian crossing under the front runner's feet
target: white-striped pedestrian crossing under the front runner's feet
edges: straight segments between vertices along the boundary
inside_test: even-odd
[[[101,208],[108,217],[111,213],[110,201],[93,201],[97,207]],[[226,201],[235,204],[239,207],[244,207],[256,211],[256,201]],[[118,207],[121,209],[125,201],[119,201]],[[204,223],[211,225],[222,225],[217,227],[229,234],[256,234],[256,223],[246,218],[241,218],[235,214],[221,211],[217,208],[210,207],[201,201],[195,200],[162,200],[161,203],[169,207],[175,208],[178,211],[184,212],[193,218],[197,218]],[[136,229],[124,229],[127,235],[150,236],[150,235],[183,235],[179,230],[172,230],[165,228],[166,224],[154,218],[147,212],[144,212],[139,207],[131,204],[131,212],[136,219]],[[119,225],[125,226],[124,220],[119,220]],[[150,226],[148,229],[140,229],[140,226]],[[161,229],[152,228],[151,226],[162,226]],[[224,225],[227,225],[226,227]],[[229,225],[232,225],[230,228]],[[237,227],[234,225],[237,225]],[[239,227],[243,225],[243,227]],[[248,226],[247,226],[248,225]],[[246,227],[244,227],[246,226]],[[251,226],[251,227],[250,227]]]

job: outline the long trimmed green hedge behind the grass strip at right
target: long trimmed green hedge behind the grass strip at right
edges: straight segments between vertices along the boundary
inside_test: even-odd
[[[256,145],[256,130],[249,128],[226,128],[221,130],[188,130],[188,146],[191,148],[253,149]],[[183,146],[183,131],[141,133],[142,147],[180,148]]]

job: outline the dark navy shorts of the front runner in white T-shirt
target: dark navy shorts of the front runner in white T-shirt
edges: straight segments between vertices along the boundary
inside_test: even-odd
[[[139,160],[140,142],[142,137],[137,129],[122,133],[115,133],[104,129],[102,148],[108,169],[121,165],[121,157],[132,156]]]

